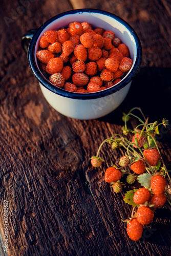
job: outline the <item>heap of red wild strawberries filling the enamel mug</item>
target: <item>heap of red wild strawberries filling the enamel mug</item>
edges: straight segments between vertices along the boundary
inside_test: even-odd
[[[56,87],[91,93],[114,86],[131,69],[129,48],[111,30],[93,29],[88,22],[49,30],[36,52],[42,73]]]

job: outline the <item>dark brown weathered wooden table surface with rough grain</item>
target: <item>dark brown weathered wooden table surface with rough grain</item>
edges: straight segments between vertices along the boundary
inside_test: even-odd
[[[61,12],[94,8],[110,11],[137,32],[143,49],[140,72],[124,102],[96,120],[63,116],[47,103],[28,66],[20,40]],[[121,133],[122,112],[139,106],[152,121],[170,120],[171,4],[168,0],[2,1],[0,68],[0,230],[8,255],[170,255],[170,210],[156,211],[143,238],[127,237],[131,207],[124,191],[104,181],[105,168],[121,151],[102,149],[106,163],[92,168],[99,144]],[[159,148],[168,169],[171,129],[161,131]]]

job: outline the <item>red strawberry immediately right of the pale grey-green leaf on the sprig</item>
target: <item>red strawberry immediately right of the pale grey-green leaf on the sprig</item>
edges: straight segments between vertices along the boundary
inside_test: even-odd
[[[166,180],[161,175],[155,175],[151,181],[151,187],[155,195],[160,195],[164,192]]]

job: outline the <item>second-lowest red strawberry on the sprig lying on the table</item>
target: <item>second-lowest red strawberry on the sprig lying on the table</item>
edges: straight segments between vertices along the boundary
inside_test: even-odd
[[[136,218],[137,218],[137,221],[142,225],[148,225],[153,221],[154,212],[152,209],[146,206],[141,206],[137,210]]]

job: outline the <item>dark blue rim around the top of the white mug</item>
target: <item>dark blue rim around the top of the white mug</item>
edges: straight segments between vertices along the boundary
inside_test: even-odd
[[[68,15],[68,14],[75,14],[75,13],[79,13],[79,12],[100,13],[103,15],[111,16],[111,17],[115,18],[118,22],[123,24],[130,31],[131,35],[133,35],[133,37],[135,39],[137,52],[136,52],[136,60],[134,63],[134,67],[132,68],[132,70],[129,74],[127,74],[124,78],[122,78],[122,80],[120,82],[118,82],[115,86],[113,86],[111,88],[108,88],[108,89],[105,89],[102,91],[98,91],[98,92],[94,92],[94,93],[69,92],[62,88],[53,86],[53,84],[50,81],[48,81],[48,79],[46,79],[46,77],[43,74],[41,74],[38,70],[38,67],[37,67],[35,59],[34,59],[34,49],[35,49],[37,38],[39,37],[42,30],[44,30],[46,28],[46,26],[48,26],[55,19],[58,19],[62,16]],[[29,66],[30,66],[34,76],[38,80],[38,82],[40,84],[42,84],[42,86],[44,86],[45,88],[47,88],[48,90],[52,91],[55,94],[58,94],[63,97],[73,98],[73,99],[101,98],[101,97],[108,96],[110,94],[113,94],[113,93],[121,90],[128,83],[130,83],[132,81],[133,77],[135,76],[135,74],[137,73],[137,71],[140,67],[141,60],[142,60],[142,47],[141,47],[141,42],[139,40],[139,37],[138,37],[137,33],[135,32],[135,30],[127,22],[125,22],[122,18],[118,17],[117,15],[112,14],[110,12],[97,10],[97,9],[76,9],[76,10],[71,10],[71,11],[67,11],[67,12],[62,12],[62,13],[50,18],[49,20],[47,20],[46,23],[42,24],[41,27],[39,27],[39,29],[37,29],[37,31],[34,33],[32,39],[30,41],[29,49],[28,49]]]

